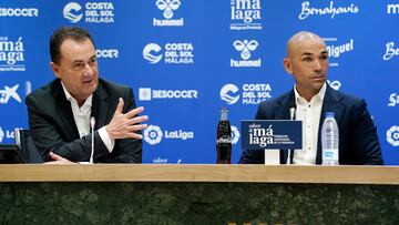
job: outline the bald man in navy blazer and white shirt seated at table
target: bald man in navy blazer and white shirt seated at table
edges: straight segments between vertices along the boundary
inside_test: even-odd
[[[307,31],[296,33],[287,42],[283,63],[295,80],[293,90],[262,102],[255,116],[255,120],[289,120],[289,109],[296,106],[295,119],[303,121],[303,150],[291,154],[280,150],[280,163],[321,164],[321,124],[326,112],[335,112],[339,127],[339,164],[382,165],[377,129],[365,100],[326,84],[328,51],[323,39]],[[264,162],[264,151],[243,150],[239,160],[243,164]]]

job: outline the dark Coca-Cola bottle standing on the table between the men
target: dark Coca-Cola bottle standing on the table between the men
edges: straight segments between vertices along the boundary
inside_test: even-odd
[[[232,161],[232,127],[228,122],[226,108],[221,110],[221,121],[217,124],[217,164],[231,164]]]

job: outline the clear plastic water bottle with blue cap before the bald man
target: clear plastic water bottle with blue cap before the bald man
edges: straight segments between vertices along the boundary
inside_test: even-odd
[[[339,165],[338,146],[339,130],[334,112],[326,112],[326,119],[321,126],[321,161],[323,165]]]

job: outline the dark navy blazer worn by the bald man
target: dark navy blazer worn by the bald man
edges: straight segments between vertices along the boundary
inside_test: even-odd
[[[276,99],[262,102],[255,120],[289,120],[289,108],[295,105],[294,90]],[[321,164],[321,124],[326,112],[335,112],[339,127],[339,164],[382,165],[377,129],[365,100],[344,94],[327,85],[318,130],[316,164]],[[287,163],[288,151],[280,151],[280,163]],[[264,151],[243,150],[239,163],[265,162]]]

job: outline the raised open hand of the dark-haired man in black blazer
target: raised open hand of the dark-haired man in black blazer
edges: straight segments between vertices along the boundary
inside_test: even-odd
[[[149,116],[141,115],[136,116],[139,113],[144,111],[143,106],[133,109],[127,113],[123,114],[123,99],[119,99],[119,103],[115,110],[115,113],[111,122],[105,126],[106,132],[110,137],[113,140],[116,139],[142,139],[141,134],[135,133],[135,131],[141,131],[147,127],[146,124],[139,124],[141,122],[147,121]]]

